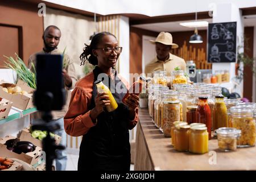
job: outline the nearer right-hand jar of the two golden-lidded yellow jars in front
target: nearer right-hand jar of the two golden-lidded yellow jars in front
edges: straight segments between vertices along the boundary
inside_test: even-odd
[[[208,131],[205,126],[192,126],[188,136],[188,151],[196,154],[208,152]]]

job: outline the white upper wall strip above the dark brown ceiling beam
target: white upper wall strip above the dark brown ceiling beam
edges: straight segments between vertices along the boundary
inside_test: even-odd
[[[237,7],[254,7],[255,0],[44,0],[74,9],[96,12],[102,15],[136,13],[148,16],[209,11],[216,3],[234,3]]]

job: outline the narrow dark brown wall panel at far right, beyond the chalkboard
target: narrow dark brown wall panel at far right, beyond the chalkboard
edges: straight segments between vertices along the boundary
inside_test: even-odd
[[[249,57],[253,57],[253,34],[254,34],[254,27],[245,27],[244,30],[245,39],[247,40],[247,45],[245,44],[245,54]],[[243,68],[243,97],[246,97],[253,101],[253,72],[251,71],[251,67],[245,66]]]

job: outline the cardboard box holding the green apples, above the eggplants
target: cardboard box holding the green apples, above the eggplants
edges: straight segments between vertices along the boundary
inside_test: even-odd
[[[31,136],[30,130],[28,130],[27,128],[22,130],[22,132],[20,133],[19,139],[20,139],[20,141],[28,141],[28,142],[33,143],[35,146],[38,146],[41,148],[43,147],[42,140],[33,138]],[[59,135],[55,134],[55,144],[56,145],[60,144],[60,140],[61,140],[61,137]]]

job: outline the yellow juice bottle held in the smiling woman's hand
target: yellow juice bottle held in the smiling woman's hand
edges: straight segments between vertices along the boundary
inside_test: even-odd
[[[113,97],[112,93],[110,92],[108,86],[104,85],[101,80],[95,81],[94,84],[96,84],[96,86],[97,86],[98,93],[105,92],[109,96],[110,105],[106,106],[106,110],[108,110],[109,112],[112,112],[115,109],[117,109],[117,107],[118,107],[117,102],[115,101],[115,98]]]

